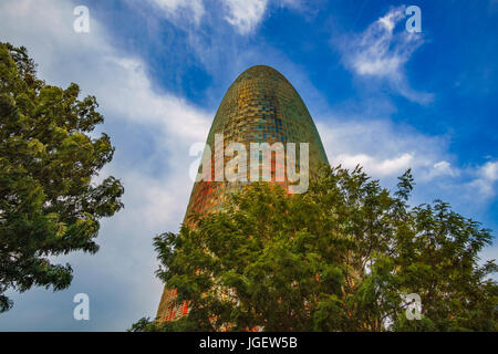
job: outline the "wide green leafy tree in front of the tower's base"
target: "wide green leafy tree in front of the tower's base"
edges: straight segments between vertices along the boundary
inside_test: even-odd
[[[178,235],[155,238],[157,275],[189,314],[132,331],[497,331],[489,230],[442,201],[409,207],[360,167],[324,167],[304,195],[250,184]],[[422,300],[406,317],[403,294]]]

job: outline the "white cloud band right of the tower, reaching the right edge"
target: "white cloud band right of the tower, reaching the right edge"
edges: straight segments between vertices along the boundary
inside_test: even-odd
[[[393,188],[396,177],[412,168],[418,185],[416,202],[434,198],[459,208],[481,210],[497,195],[498,160],[476,167],[458,166],[448,153],[445,137],[428,136],[387,119],[360,121],[346,117],[318,119],[331,165],[360,165],[374,178]]]

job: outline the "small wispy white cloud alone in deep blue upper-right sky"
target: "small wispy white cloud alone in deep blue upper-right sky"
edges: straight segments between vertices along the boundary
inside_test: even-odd
[[[405,31],[405,7],[392,9],[361,34],[347,38],[339,46],[347,67],[360,76],[386,80],[406,98],[426,104],[429,93],[414,91],[405,75],[405,64],[424,40],[421,33]],[[395,31],[396,25],[403,29]]]

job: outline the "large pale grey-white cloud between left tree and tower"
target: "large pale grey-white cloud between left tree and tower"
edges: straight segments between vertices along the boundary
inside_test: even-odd
[[[183,221],[191,189],[188,165],[194,160],[188,156],[188,147],[206,139],[214,114],[173,94],[154,91],[144,63],[112,45],[112,39],[94,19],[92,9],[91,32],[75,33],[74,7],[70,1],[2,1],[0,33],[2,41],[28,48],[39,64],[39,76],[48,83],[66,86],[76,82],[83,94],[94,94],[100,112],[106,117],[100,128],[110,133],[114,144],[120,138],[125,142],[116,145],[115,160],[120,159],[120,165],[114,162],[102,174],[123,180],[125,208],[103,221],[97,239],[100,252],[95,256],[72,253],[61,259],[73,264],[75,284],[83,292],[100,288],[103,291],[94,293],[92,299],[101,303],[100,319],[104,322],[94,319],[92,325],[124,330],[139,316],[155,314],[162,285],[154,275],[157,261],[152,238],[177,230]],[[145,136],[135,137],[134,129],[145,132],[142,133]],[[123,138],[116,136],[116,132],[129,135]],[[145,150],[145,157],[137,157],[135,150]],[[164,168],[158,168],[162,164]],[[110,283],[116,284],[115,288],[110,288],[114,287]],[[70,288],[65,292],[73,290]],[[104,315],[106,309],[113,308],[105,302],[104,292],[110,295],[108,301],[118,298],[122,304],[118,314]],[[17,322],[18,327],[23,327],[22,323],[31,321],[32,313],[22,312],[28,305],[23,299],[27,298],[17,295],[10,322],[2,324],[0,319],[0,326],[12,327]],[[44,306],[58,309],[56,299],[45,298],[50,304]],[[68,319],[60,330],[73,327],[70,315],[62,313],[60,319]],[[51,321],[52,317],[48,317],[40,323]]]

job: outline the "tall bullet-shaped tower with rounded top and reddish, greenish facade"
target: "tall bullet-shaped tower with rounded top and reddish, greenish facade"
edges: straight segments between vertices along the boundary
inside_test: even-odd
[[[222,134],[222,139],[219,139],[219,134]],[[224,154],[228,144],[242,143],[249,156],[251,143],[272,145],[278,142],[283,146],[287,143],[295,143],[297,146],[299,143],[309,144],[310,176],[317,174],[321,164],[329,164],[313,119],[295,88],[277,70],[264,65],[252,66],[237,77],[219,105],[207,138],[207,146],[212,150],[211,168],[203,170],[204,174],[211,173],[212,178],[194,184],[184,222],[188,223],[189,216],[194,212],[205,215],[220,210],[228,194],[247,184],[215,180],[215,156],[219,149]],[[229,158],[224,159],[224,168]],[[284,188],[294,185],[289,181],[287,174],[283,181],[276,181],[276,167],[282,167],[276,164],[277,158],[271,158],[270,183],[280,184]],[[300,166],[299,157],[295,164]],[[249,171],[249,167],[247,169]],[[175,321],[188,311],[189,302],[177,301],[176,290],[165,288],[156,320]]]

